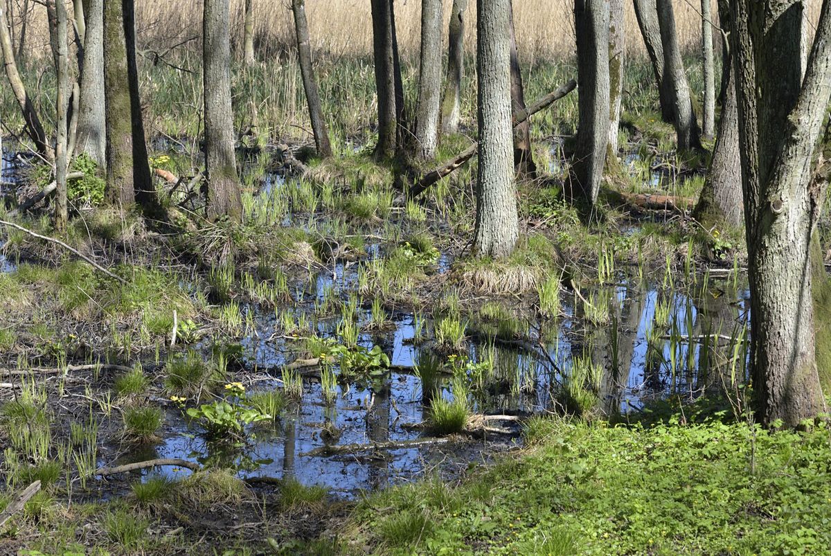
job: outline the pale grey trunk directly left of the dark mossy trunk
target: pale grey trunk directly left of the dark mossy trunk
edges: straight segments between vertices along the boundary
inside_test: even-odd
[[[88,0],[79,102],[75,154],[86,153],[106,173],[104,0]]]

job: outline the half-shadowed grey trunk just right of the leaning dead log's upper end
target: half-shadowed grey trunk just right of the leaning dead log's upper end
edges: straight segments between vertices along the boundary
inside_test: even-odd
[[[590,209],[600,193],[609,136],[609,3],[575,0],[578,131],[573,197]]]

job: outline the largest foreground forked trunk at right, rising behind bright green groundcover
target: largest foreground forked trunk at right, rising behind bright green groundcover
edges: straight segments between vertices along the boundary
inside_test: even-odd
[[[814,180],[812,159],[831,97],[831,12],[829,2],[823,2],[803,79],[803,9],[799,0],[731,2],[750,278],[750,368],[756,411],[768,425],[782,420],[795,426],[824,411],[816,363],[812,244],[825,187]]]

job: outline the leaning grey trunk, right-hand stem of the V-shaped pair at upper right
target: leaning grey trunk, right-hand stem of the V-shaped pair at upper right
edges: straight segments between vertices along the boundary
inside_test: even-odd
[[[658,24],[664,49],[664,80],[671,101],[672,123],[678,135],[678,150],[701,149],[701,130],[692,110],[690,86],[681,60],[672,0],[657,0]]]

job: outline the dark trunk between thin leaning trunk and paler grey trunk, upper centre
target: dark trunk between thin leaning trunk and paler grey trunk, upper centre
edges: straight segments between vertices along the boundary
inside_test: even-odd
[[[372,53],[378,104],[376,158],[396,154],[396,79],[390,0],[372,0]]]

